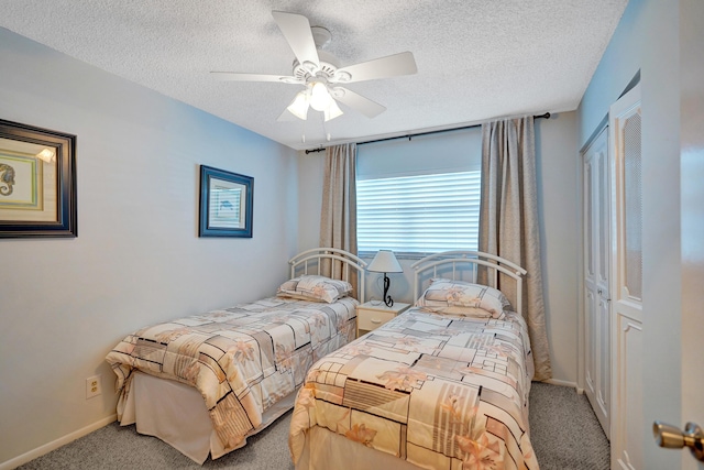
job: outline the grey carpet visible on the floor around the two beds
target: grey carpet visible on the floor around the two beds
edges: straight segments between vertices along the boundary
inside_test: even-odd
[[[289,470],[290,412],[248,439],[242,449],[200,467],[160,439],[112,423],[20,469],[235,469]],[[534,383],[530,440],[541,470],[607,470],[609,445],[585,395],[574,389]]]

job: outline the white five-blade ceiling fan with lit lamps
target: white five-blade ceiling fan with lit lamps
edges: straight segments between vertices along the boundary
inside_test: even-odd
[[[337,101],[369,118],[374,118],[386,108],[342,85],[411,75],[418,72],[410,52],[340,67],[336,56],[322,51],[322,47],[330,42],[330,31],[321,26],[311,28],[308,19],[301,14],[273,11],[272,15],[296,56],[290,76],[234,72],[211,72],[211,74],[216,79],[226,81],[275,81],[305,86],[278,120],[285,118],[288,112],[305,120],[308,117],[308,108],[312,108],[322,111],[324,120],[329,121],[342,114]]]

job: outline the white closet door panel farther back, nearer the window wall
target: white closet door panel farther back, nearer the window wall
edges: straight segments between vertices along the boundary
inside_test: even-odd
[[[583,153],[585,392],[606,436],[610,396],[608,131]]]

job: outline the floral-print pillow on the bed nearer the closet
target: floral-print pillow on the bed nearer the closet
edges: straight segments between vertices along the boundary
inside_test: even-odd
[[[501,318],[510,303],[494,287],[438,277],[430,280],[416,306],[439,314]]]

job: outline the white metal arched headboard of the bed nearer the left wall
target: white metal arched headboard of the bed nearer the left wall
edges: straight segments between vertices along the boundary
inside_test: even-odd
[[[329,260],[331,265],[330,277],[350,282],[350,273],[358,276],[358,300],[364,302],[364,286],[366,274],[366,261],[338,248],[314,248],[301,251],[288,260],[290,264],[290,277],[305,274],[322,275],[323,260]],[[339,261],[340,264],[332,261]],[[336,267],[338,267],[336,270]],[[353,270],[353,271],[351,271]]]

